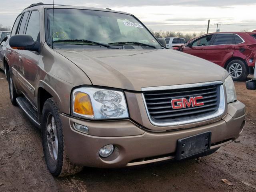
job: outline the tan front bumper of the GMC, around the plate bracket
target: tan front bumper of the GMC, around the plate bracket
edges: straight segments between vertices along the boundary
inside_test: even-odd
[[[169,132],[146,131],[131,120],[95,122],[65,114],[61,119],[66,151],[72,163],[115,168],[173,159],[178,139],[207,131],[212,132],[212,150],[232,142],[242,132],[245,106],[239,101],[228,104],[226,116],[216,122]],[[87,126],[89,134],[74,130],[75,122]],[[98,152],[107,144],[114,144],[114,153],[101,158]]]

